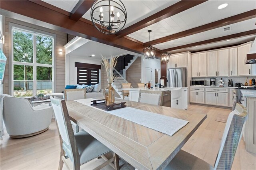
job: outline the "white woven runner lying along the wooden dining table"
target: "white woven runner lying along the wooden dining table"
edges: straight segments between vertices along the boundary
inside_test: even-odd
[[[79,99],[74,101],[78,103],[82,103],[87,106],[91,106],[92,100],[95,100],[95,99]],[[99,109],[99,110],[103,111],[102,109]],[[182,127],[184,127],[188,123],[188,121],[185,121],[182,119],[160,115],[160,114],[152,113],[148,111],[143,111],[143,110],[135,109],[132,107],[125,107],[122,109],[105,111],[105,112],[111,115],[121,117],[128,121],[137,123],[144,127],[157,130],[164,134],[168,134],[170,136],[172,136],[174,133],[176,133],[178,130],[180,130]]]

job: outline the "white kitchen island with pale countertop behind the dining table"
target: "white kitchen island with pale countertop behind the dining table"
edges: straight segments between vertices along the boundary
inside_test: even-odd
[[[146,87],[141,88],[127,88],[122,90],[129,90],[129,100],[138,101],[140,90],[148,91],[171,91],[171,104],[168,107],[177,109],[188,109],[188,87],[153,87],[148,89]]]

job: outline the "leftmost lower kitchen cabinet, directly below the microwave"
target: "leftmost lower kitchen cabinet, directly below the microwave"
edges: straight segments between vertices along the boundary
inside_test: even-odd
[[[204,104],[204,87],[190,87],[190,103]]]

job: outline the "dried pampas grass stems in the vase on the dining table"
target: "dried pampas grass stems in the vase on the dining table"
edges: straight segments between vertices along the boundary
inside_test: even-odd
[[[103,60],[103,63],[102,62],[101,63],[106,69],[108,84],[112,84],[117,79],[117,77],[114,76],[114,67],[116,67],[118,57],[111,57],[109,61],[108,59],[106,59],[106,57],[103,57],[103,56],[101,57]]]

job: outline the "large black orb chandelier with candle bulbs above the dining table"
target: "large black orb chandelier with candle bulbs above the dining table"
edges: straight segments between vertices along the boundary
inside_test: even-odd
[[[92,4],[91,19],[100,32],[116,34],[124,28],[127,12],[120,0],[100,0]]]

